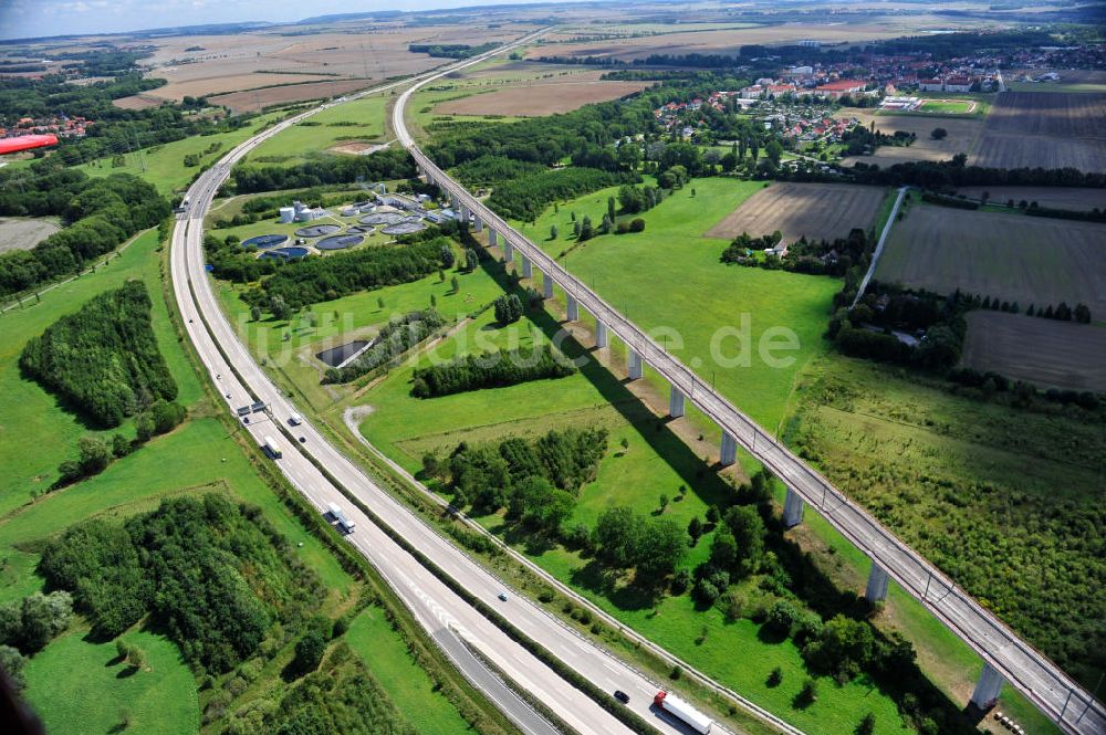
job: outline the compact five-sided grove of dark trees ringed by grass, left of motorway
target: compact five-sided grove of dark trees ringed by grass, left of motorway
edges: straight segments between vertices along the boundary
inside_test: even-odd
[[[93,297],[23,347],[20,369],[104,427],[177,397],[140,281]]]

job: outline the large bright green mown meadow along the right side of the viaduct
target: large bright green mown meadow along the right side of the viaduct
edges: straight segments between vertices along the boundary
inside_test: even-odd
[[[572,213],[598,223],[616,188],[563,203],[557,212],[546,210],[534,225],[517,227],[554,258],[565,252],[560,262],[638,326],[659,335],[670,332],[658,342],[755,421],[774,430],[795,374],[826,349],[822,333],[841,284],[828,277],[720,262],[726,243],[706,239],[703,232],[762,187],[755,181],[697,179],[640,216],[645,232],[599,235],[580,248],[573,248]],[[553,224],[557,240],[550,240]],[[743,335],[747,322],[749,349],[742,350],[742,340],[732,334]],[[799,348],[775,353],[787,365],[771,367],[760,350],[761,340],[765,333],[781,330],[791,330]],[[739,358],[748,358],[748,365]],[[731,366],[734,361],[739,364]]]

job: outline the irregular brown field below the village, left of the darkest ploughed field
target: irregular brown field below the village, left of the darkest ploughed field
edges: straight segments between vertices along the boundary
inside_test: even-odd
[[[886,168],[910,160],[949,160],[957,154],[970,156],[984,125],[984,120],[978,117],[940,119],[929,115],[890,115],[886,113],[877,115],[866,109],[849,109],[848,114],[859,119],[862,125],[868,126],[875,123],[876,129],[880,133],[894,135],[896,130],[902,130],[904,133],[914,133],[918,138],[910,146],[880,146],[872,156],[846,158],[846,166],[860,161]],[[943,127],[948,132],[948,136],[941,140],[933,140],[930,133],[937,127]]]

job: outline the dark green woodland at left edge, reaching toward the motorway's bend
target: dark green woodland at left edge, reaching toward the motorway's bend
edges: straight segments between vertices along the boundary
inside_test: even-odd
[[[125,174],[90,179],[59,166],[30,174],[0,169],[0,214],[55,216],[67,225],[31,250],[0,255],[0,295],[8,295],[76,273],[165,220],[169,202],[152,185]]]

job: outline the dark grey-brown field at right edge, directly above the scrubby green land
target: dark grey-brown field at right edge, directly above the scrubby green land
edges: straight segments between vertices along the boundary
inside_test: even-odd
[[[1022,314],[971,312],[962,364],[1042,388],[1103,392],[1106,328]]]

